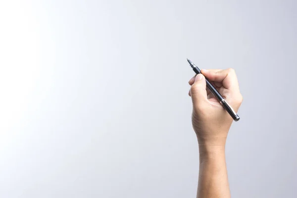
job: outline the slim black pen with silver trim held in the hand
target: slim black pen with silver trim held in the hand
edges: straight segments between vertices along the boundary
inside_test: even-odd
[[[195,71],[196,74],[201,74],[200,69],[187,58],[189,64],[191,65],[192,69]],[[238,121],[240,117],[237,115],[237,113],[233,110],[233,108],[228,104],[228,102],[220,95],[220,93],[214,88],[214,86],[205,78],[206,86],[210,90],[210,92],[220,101],[222,106],[226,109],[226,111],[231,115],[233,120]]]

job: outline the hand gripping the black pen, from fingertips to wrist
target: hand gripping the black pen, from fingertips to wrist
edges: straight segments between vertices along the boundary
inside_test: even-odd
[[[201,73],[237,112],[243,97],[234,69],[201,70]],[[189,96],[193,102],[193,128],[199,145],[224,146],[233,119],[206,88],[205,77],[202,74],[194,76],[189,81]]]

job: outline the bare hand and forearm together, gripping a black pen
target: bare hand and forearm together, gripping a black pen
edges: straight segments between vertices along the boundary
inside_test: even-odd
[[[233,119],[206,88],[205,77],[236,112],[243,97],[234,69],[201,70],[201,73],[203,75],[198,74],[189,81],[192,124],[199,145],[197,198],[230,198],[225,144]]]

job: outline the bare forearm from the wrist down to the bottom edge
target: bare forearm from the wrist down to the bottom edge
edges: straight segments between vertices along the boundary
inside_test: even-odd
[[[225,146],[199,145],[197,198],[230,198]]]

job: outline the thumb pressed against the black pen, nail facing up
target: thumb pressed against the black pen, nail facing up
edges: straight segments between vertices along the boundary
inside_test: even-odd
[[[207,102],[206,82],[202,74],[198,74],[194,84],[191,86],[191,97],[193,106],[200,108]]]

